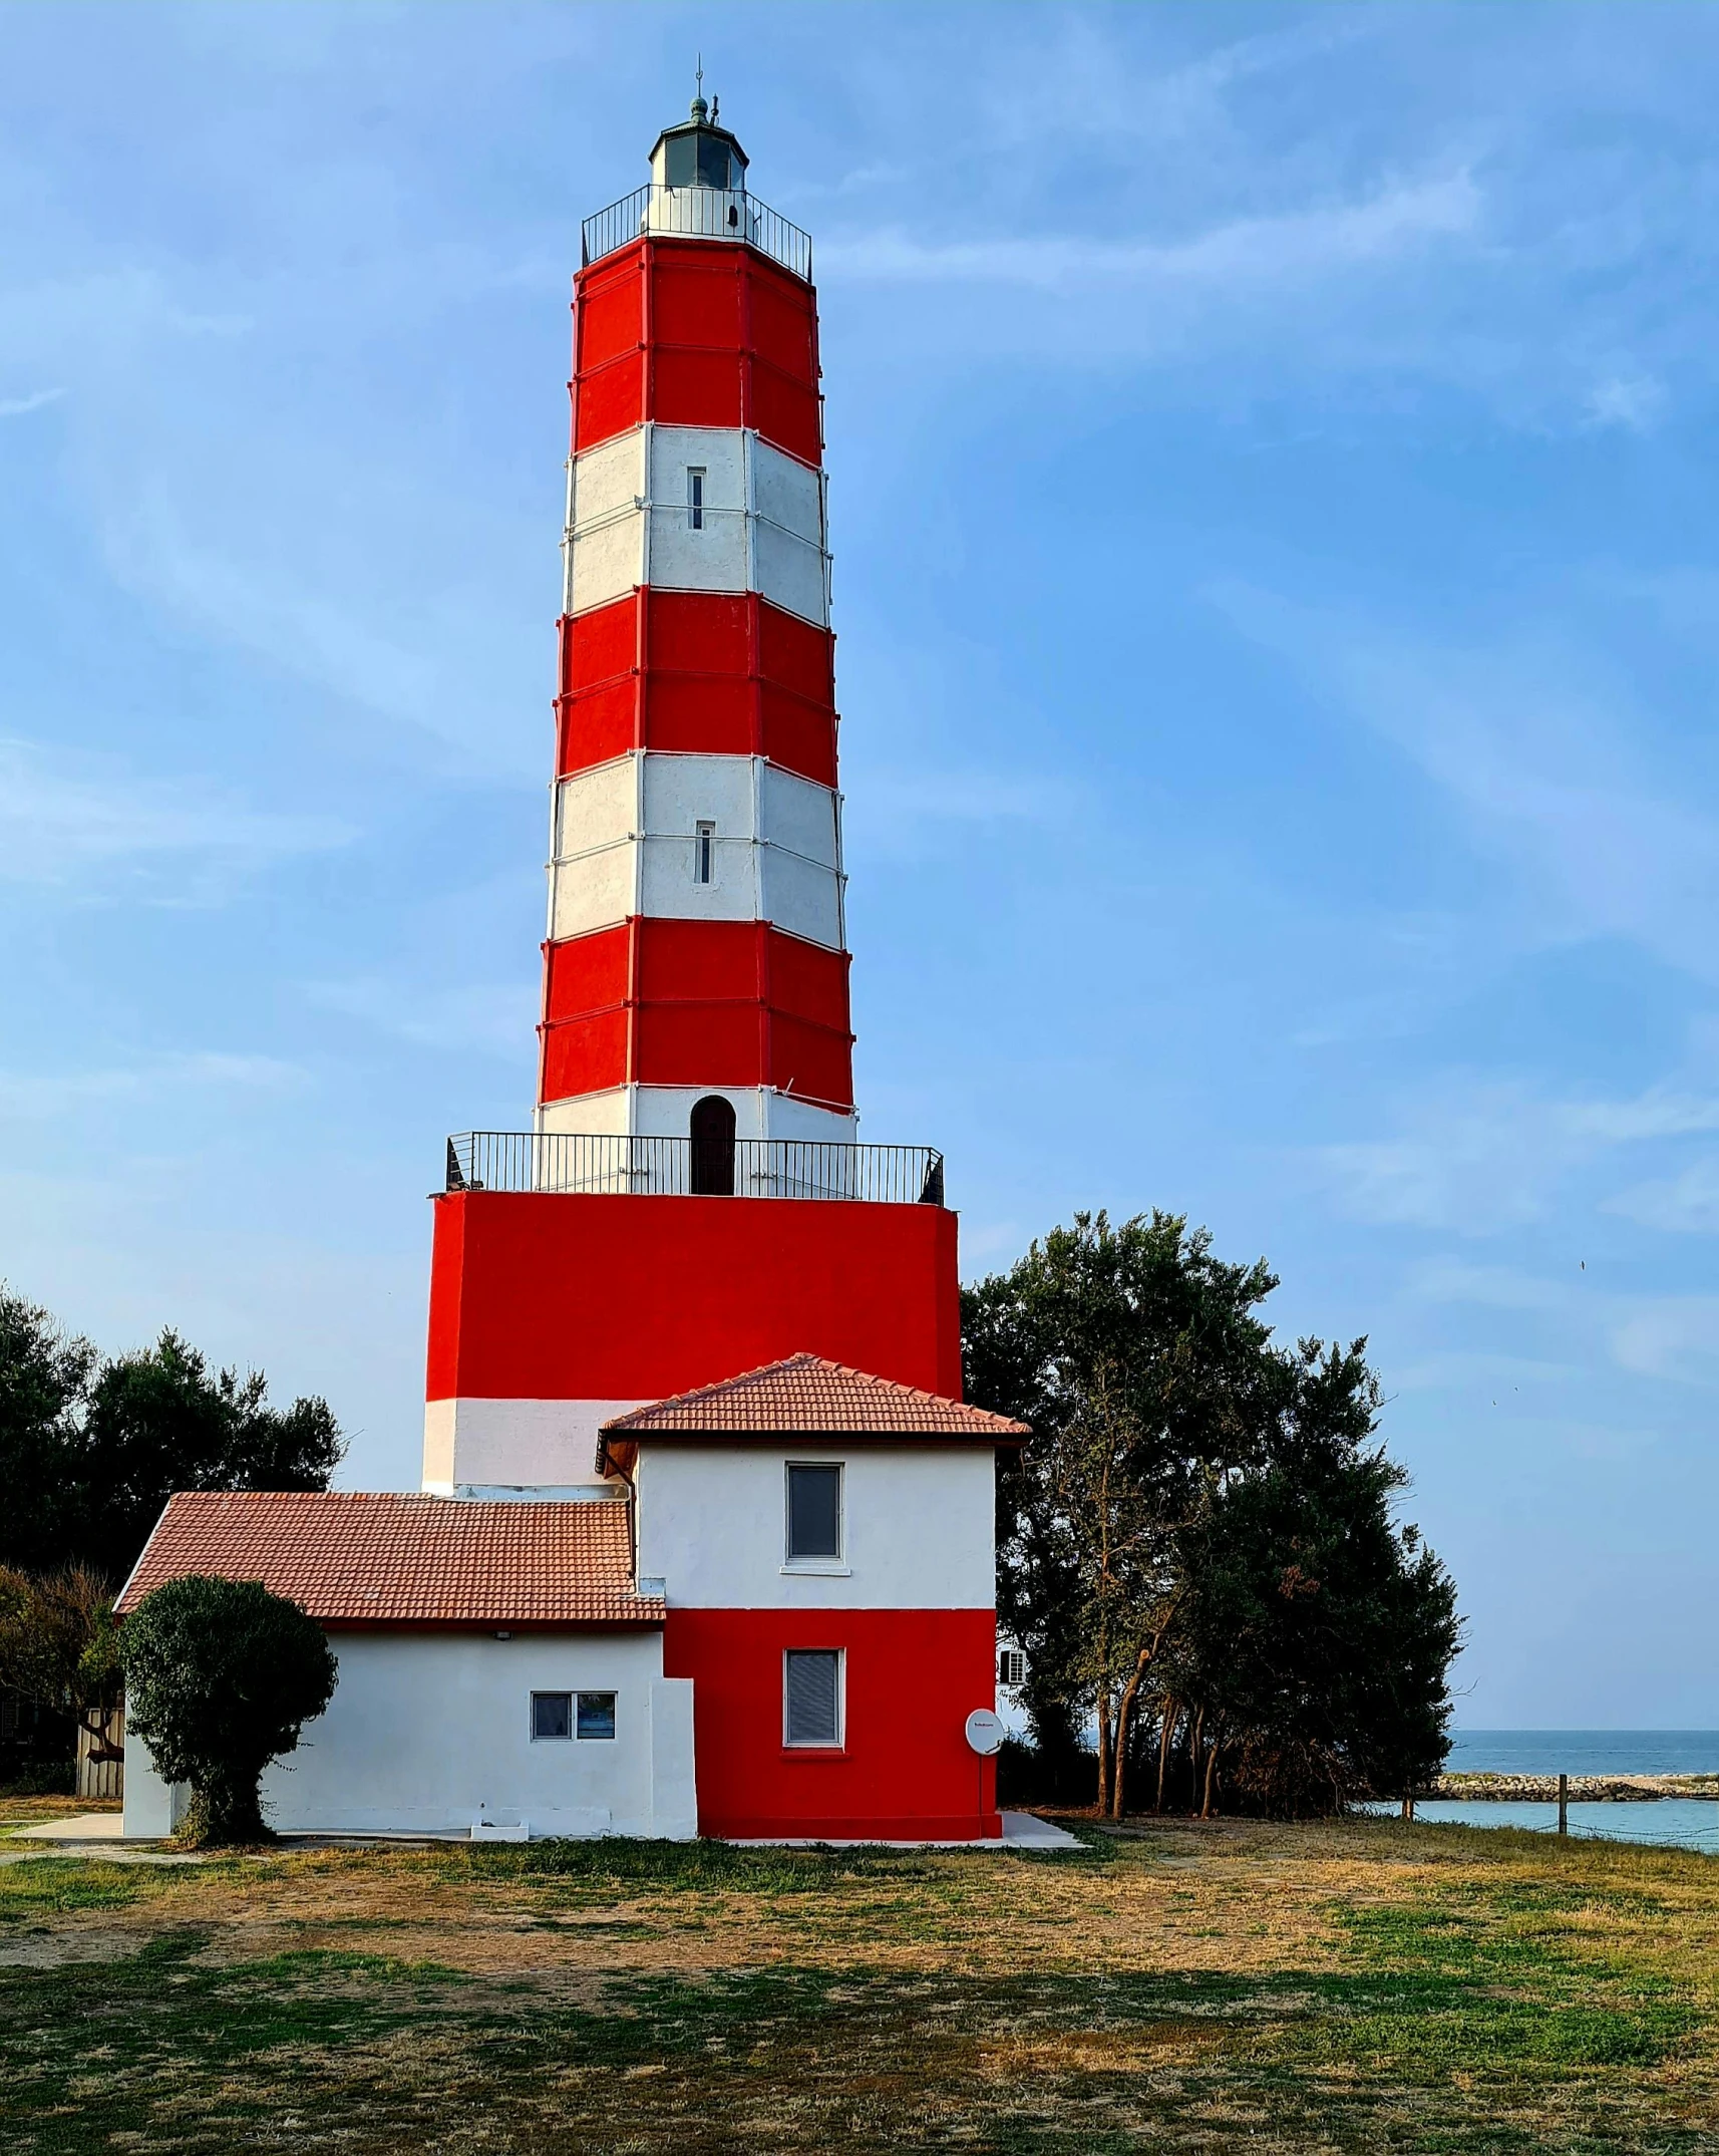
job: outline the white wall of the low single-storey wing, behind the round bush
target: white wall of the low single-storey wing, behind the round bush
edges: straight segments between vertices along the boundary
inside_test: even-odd
[[[661,1632],[330,1632],[340,1684],[299,1749],[263,1774],[286,1833],[698,1833],[691,1684]],[[616,1736],[532,1742],[532,1692],[616,1692]],[[183,1792],[125,1744],[125,1833],[168,1835]]]

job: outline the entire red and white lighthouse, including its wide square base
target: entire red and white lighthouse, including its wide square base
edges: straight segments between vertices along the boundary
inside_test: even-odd
[[[713,108],[586,218],[528,1132],[448,1141],[424,1488],[791,1354],[961,1395],[956,1222],[860,1145],[812,241]]]

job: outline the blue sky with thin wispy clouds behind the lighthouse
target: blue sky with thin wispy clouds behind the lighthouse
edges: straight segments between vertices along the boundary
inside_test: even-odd
[[[579,218],[816,246],[870,1138],[1366,1332],[1469,1725],[1719,1725],[1710,9],[0,6],[0,1272],[416,1479]]]

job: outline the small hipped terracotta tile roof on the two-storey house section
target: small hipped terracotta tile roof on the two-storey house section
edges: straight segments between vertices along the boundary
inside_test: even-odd
[[[984,1408],[965,1408],[939,1393],[870,1378],[816,1354],[750,1369],[743,1378],[676,1393],[651,1408],[633,1408],[603,1423],[616,1438],[722,1438],[722,1436],[842,1436],[941,1438],[965,1445],[1019,1445],[1032,1436]]]

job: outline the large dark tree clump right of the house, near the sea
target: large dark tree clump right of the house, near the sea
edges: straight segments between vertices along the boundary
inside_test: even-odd
[[[963,1294],[967,1397],[1034,1427],[997,1479],[1000,1623],[1040,1751],[1096,1725],[1118,1815],[1146,1766],[1273,1811],[1443,1759],[1454,1587],[1394,1518],[1366,1341],[1275,1345],[1275,1285],[1174,1214],[1101,1212]]]

